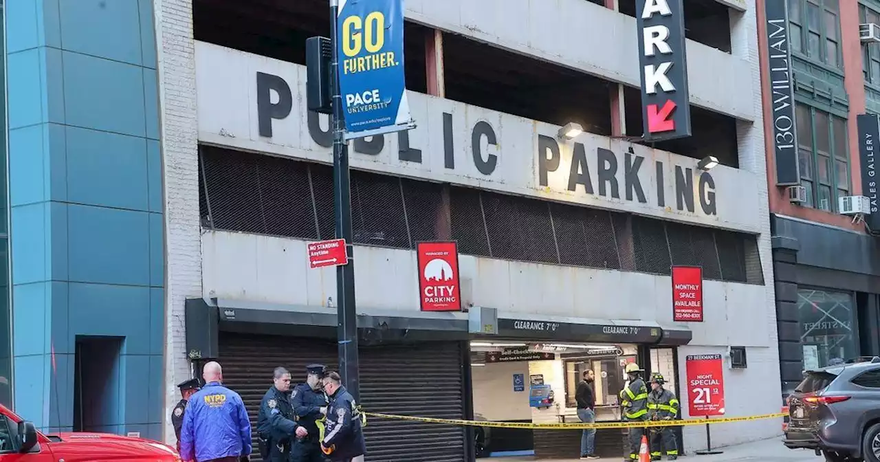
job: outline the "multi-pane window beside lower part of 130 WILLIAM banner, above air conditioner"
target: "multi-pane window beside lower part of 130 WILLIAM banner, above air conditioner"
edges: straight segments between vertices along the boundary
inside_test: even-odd
[[[834,211],[837,198],[849,195],[847,120],[802,104],[795,117],[804,205]]]

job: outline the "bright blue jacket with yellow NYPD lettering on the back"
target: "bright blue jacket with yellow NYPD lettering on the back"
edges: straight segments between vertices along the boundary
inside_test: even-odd
[[[180,428],[180,458],[210,460],[251,453],[251,422],[237,392],[206,384],[187,402]]]

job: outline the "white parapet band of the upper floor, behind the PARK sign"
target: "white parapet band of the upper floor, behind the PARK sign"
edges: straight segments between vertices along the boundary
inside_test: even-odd
[[[754,2],[747,3],[754,10]],[[405,6],[407,19],[612,82],[641,85],[635,18],[597,4],[583,0],[406,0]],[[752,106],[750,63],[736,49],[730,55],[693,40],[687,40],[686,48],[692,104],[745,121],[760,117]]]

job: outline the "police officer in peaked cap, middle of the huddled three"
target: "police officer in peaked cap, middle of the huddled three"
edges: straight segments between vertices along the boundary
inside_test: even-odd
[[[292,462],[323,462],[324,453],[321,452],[319,442],[319,430],[317,422],[327,413],[326,394],[321,389],[322,380],[326,368],[324,364],[310,364],[305,368],[307,375],[305,383],[297,385],[290,395],[290,404],[293,405],[293,413],[297,415],[297,423],[309,432],[308,436],[299,438],[293,443],[290,451]]]

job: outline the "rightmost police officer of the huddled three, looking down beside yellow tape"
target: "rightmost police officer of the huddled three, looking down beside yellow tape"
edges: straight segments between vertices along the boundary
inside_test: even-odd
[[[363,441],[361,411],[354,397],[342,386],[342,379],[336,372],[325,374],[324,392],[330,398],[330,406],[327,407],[321,451],[334,462],[363,462],[367,447]]]

